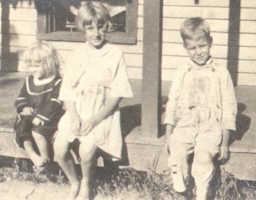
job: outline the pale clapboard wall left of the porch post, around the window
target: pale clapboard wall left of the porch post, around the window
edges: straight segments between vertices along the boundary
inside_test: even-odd
[[[15,1],[10,1],[15,2]],[[142,4],[138,7],[138,42],[136,45],[117,45],[124,53],[130,79],[142,79]],[[1,4],[1,70],[25,71],[23,52],[36,41],[37,12],[31,0],[17,1],[14,4]],[[80,42],[54,42],[52,45],[60,55],[61,70],[73,49]]]

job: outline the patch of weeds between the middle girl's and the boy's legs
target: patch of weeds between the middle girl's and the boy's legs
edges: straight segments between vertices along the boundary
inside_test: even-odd
[[[177,196],[171,184],[169,170],[158,174],[154,170],[145,172],[124,168],[110,183],[101,182],[96,190],[97,193],[108,196],[117,196],[124,191],[136,192],[141,198],[152,200],[176,199]]]

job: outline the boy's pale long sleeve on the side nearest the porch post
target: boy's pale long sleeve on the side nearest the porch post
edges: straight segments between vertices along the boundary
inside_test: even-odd
[[[179,101],[180,90],[182,88],[182,74],[182,70],[178,68],[173,75],[173,81],[171,82],[171,88],[168,94],[164,124],[175,125],[177,104]]]

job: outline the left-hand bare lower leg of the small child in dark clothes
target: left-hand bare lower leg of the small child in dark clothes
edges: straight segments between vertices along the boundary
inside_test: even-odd
[[[23,146],[29,155],[30,160],[32,160],[36,166],[42,166],[45,163],[45,159],[36,154],[32,141],[25,140]]]

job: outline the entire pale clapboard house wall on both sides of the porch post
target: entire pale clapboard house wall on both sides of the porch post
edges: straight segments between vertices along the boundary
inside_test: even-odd
[[[10,1],[15,2],[15,1]],[[218,61],[227,64],[237,74],[238,85],[256,85],[256,1],[236,0],[163,0],[162,80],[171,80],[173,71],[189,61],[180,38],[180,24],[188,17],[204,17],[211,26],[213,48],[211,53]],[[1,5],[1,70],[24,71],[23,51],[36,41],[36,9],[33,1],[17,1],[17,5]],[[230,18],[229,11],[239,16]],[[232,17],[232,16],[231,16]],[[238,23],[239,31],[230,32],[230,23]],[[233,20],[233,21],[232,21]],[[61,57],[61,67],[78,42],[51,42]],[[136,45],[118,45],[124,52],[130,79],[142,79],[143,53],[143,0],[138,7],[138,42]],[[235,53],[237,52],[237,56]]]

